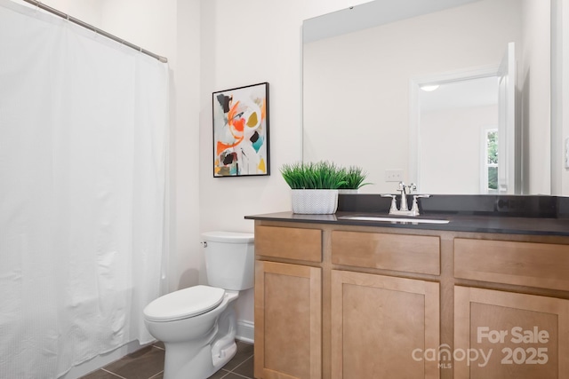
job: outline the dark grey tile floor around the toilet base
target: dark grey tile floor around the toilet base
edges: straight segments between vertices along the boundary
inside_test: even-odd
[[[209,379],[252,379],[252,344],[237,341],[237,352]],[[164,344],[155,343],[134,351],[81,379],[163,379]]]

